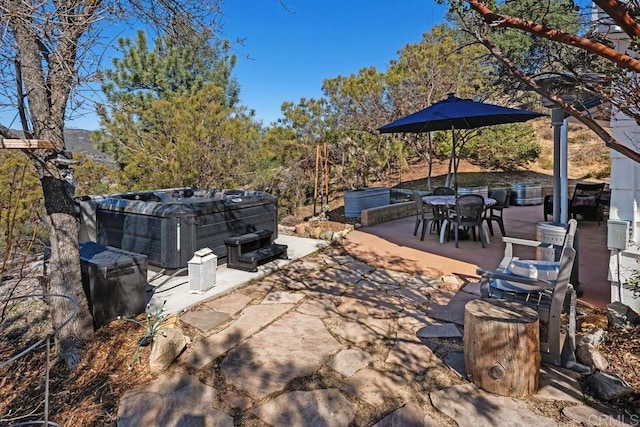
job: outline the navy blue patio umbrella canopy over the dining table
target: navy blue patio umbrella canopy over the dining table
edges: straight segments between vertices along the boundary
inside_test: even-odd
[[[418,133],[449,129],[475,129],[483,126],[526,122],[545,115],[535,111],[462,99],[450,94],[447,99],[386,124],[378,128],[378,131],[381,133]]]

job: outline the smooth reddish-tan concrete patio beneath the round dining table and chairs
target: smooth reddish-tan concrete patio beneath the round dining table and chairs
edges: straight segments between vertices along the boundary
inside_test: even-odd
[[[536,224],[543,221],[542,205],[510,206],[504,210],[507,235],[535,239]],[[438,236],[427,234],[424,241],[413,235],[415,216],[364,227],[349,233],[344,247],[353,256],[370,265],[429,276],[457,276],[463,283],[477,282],[477,268],[494,269],[502,259],[504,244],[497,227],[491,244],[485,249],[480,242],[453,241],[440,244]],[[607,280],[609,251],[606,222],[578,222],[579,300],[604,308],[610,302],[610,282]],[[521,258],[535,259],[531,248],[518,248]],[[575,267],[574,267],[575,268]]]

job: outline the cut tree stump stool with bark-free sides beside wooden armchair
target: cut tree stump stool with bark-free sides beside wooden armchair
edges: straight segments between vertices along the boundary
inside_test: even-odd
[[[475,300],[464,310],[464,366],[478,387],[501,396],[538,390],[538,313],[511,301]]]

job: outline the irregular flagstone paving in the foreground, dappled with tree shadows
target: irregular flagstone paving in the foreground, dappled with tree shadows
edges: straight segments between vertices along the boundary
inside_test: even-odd
[[[327,248],[181,316],[198,331],[174,365],[121,399],[119,426],[579,426],[600,420],[572,373],[537,395],[466,378],[456,277],[375,269]],[[554,403],[555,402],[555,403]],[[560,402],[560,404],[558,404]],[[555,420],[539,408],[563,407]],[[595,411],[595,412],[594,412]],[[591,424],[598,425],[598,424]]]

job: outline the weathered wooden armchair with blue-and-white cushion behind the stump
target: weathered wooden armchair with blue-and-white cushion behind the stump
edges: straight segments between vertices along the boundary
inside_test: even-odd
[[[480,297],[515,301],[535,309],[546,334],[540,335],[542,360],[557,366],[588,372],[589,368],[576,362],[576,292],[571,283],[571,270],[576,251],[573,247],[577,221],[571,219],[558,262],[520,260],[514,256],[513,246],[555,247],[534,240],[504,237],[504,257],[494,271],[478,269]],[[562,314],[567,314],[567,326]],[[546,336],[545,336],[546,335]]]

